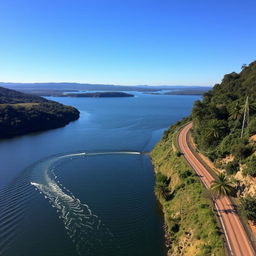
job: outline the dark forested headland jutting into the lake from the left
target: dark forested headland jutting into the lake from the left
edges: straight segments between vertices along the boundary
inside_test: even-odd
[[[78,118],[73,107],[0,87],[0,138],[61,127]]]

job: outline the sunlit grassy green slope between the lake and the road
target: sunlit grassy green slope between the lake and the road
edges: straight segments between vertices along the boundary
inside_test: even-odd
[[[175,146],[181,124],[167,130],[151,153],[156,171],[155,193],[167,225],[168,255],[224,255],[212,202]]]

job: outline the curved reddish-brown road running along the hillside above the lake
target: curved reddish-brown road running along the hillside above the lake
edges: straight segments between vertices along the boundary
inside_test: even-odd
[[[202,163],[196,158],[187,144],[187,134],[192,127],[192,123],[187,124],[179,133],[178,143],[185,159],[196,171],[207,189],[211,187],[213,176],[207,171]],[[233,256],[255,256],[250,240],[244,227],[236,214],[229,198],[222,197],[215,201],[215,206],[220,216],[221,224],[228,242],[230,255]]]

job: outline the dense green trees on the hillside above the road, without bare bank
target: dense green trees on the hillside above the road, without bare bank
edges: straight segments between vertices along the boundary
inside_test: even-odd
[[[212,161],[230,156],[232,161],[222,166],[227,172],[245,164],[243,173],[256,177],[256,168],[250,169],[256,161],[256,61],[239,74],[225,75],[202,102],[196,101],[192,119],[193,137],[203,153]]]

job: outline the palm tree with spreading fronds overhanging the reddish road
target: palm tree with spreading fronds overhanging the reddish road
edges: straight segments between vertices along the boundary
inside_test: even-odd
[[[212,181],[211,190],[216,198],[230,196],[235,192],[232,182],[230,182],[223,173],[221,173],[216,180]]]

